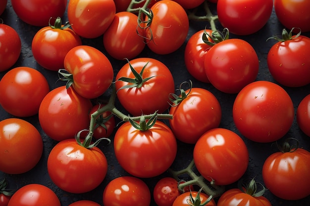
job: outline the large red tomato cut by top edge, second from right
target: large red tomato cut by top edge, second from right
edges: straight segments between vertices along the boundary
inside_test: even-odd
[[[272,0],[218,0],[218,20],[230,33],[250,35],[260,30],[269,20]]]

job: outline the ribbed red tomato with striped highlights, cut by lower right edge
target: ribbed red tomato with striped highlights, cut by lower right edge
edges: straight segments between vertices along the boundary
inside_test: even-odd
[[[271,154],[262,166],[262,178],[268,190],[284,200],[299,200],[310,195],[310,152]]]

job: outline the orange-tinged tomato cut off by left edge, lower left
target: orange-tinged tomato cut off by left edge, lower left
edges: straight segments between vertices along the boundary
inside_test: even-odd
[[[42,152],[41,135],[32,124],[15,118],[0,121],[0,171],[27,172],[37,165]]]

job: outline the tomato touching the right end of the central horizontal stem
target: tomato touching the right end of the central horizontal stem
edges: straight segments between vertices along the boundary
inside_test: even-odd
[[[219,126],[222,112],[218,100],[210,91],[192,88],[188,92],[180,104],[169,109],[169,114],[173,115],[169,124],[177,139],[195,144],[206,131]]]

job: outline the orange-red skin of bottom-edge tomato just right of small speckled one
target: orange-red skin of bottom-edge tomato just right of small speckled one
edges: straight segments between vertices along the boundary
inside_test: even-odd
[[[190,200],[190,194],[192,193],[192,197],[195,198],[197,197],[198,192],[185,192],[182,193],[180,196],[178,196],[175,201],[173,202],[172,206],[188,206],[188,200]],[[209,198],[209,196],[205,193],[200,193],[200,200],[201,203],[204,203],[207,199]],[[207,203],[206,206],[216,206],[216,203],[214,200],[211,200],[210,202]]]

